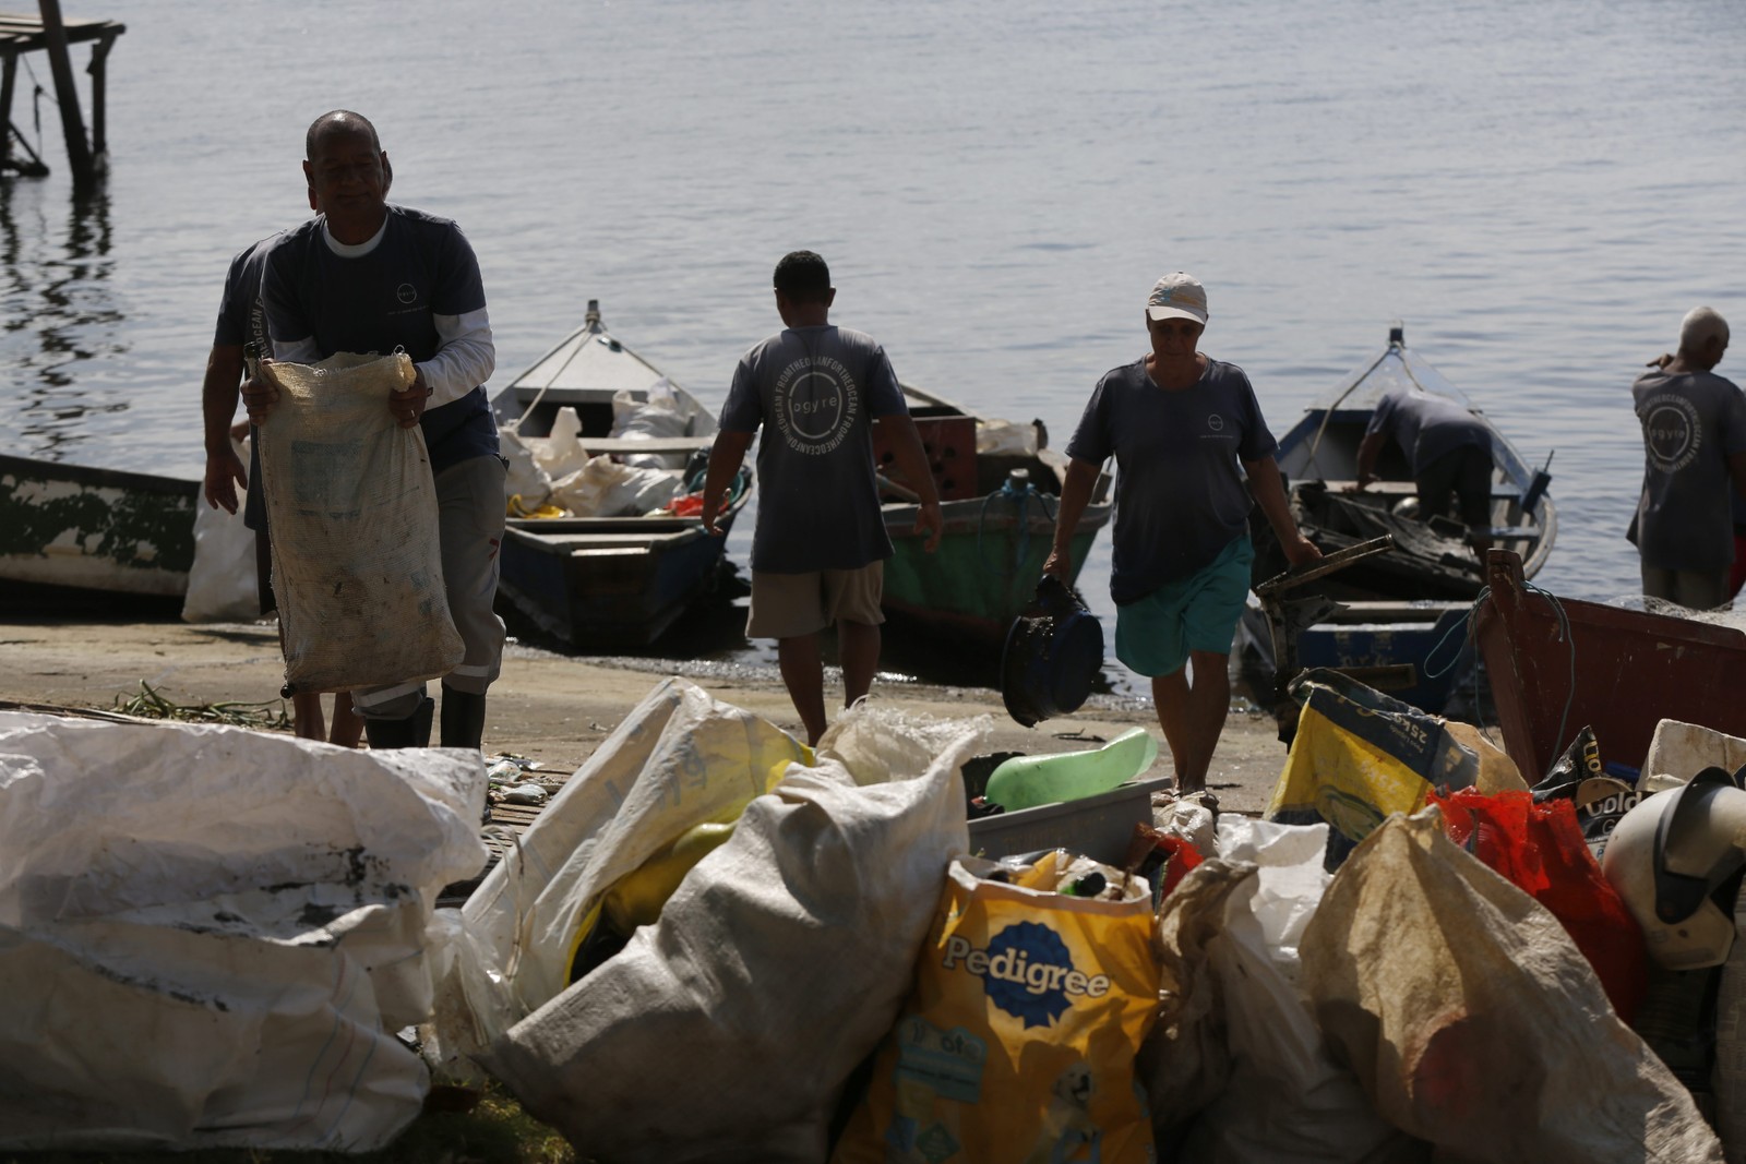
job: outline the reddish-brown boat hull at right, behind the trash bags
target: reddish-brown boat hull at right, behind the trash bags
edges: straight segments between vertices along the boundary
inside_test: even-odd
[[[1746,633],[1531,592],[1521,558],[1493,550],[1475,635],[1503,750],[1540,778],[1584,728],[1606,764],[1641,768],[1655,724],[1746,736]],[[1690,775],[1690,773],[1676,773]]]

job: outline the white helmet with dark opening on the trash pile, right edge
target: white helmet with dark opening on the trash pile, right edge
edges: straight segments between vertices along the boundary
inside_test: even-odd
[[[1723,768],[1657,792],[1627,811],[1601,871],[1643,927],[1648,955],[1669,970],[1722,965],[1734,916],[1713,894],[1746,866],[1746,791]]]

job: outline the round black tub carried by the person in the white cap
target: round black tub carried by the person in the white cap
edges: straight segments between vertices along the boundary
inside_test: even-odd
[[[1000,654],[1000,698],[1030,728],[1079,710],[1103,668],[1103,627],[1060,578],[1044,574],[1013,620]]]

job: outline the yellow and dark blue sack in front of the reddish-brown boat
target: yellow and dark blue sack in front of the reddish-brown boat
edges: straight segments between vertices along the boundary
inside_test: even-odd
[[[1266,820],[1329,824],[1327,867],[1336,869],[1390,813],[1423,808],[1432,787],[1465,789],[1479,756],[1444,721],[1334,670],[1292,681],[1303,703],[1285,770]]]

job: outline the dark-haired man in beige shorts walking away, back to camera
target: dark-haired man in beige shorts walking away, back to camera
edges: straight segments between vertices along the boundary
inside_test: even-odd
[[[873,478],[873,417],[890,429],[897,468],[922,496],[915,531],[929,531],[929,553],[939,544],[939,496],[897,375],[871,335],[829,323],[835,298],[819,255],[793,251],[777,264],[775,309],[784,330],[733,370],[704,478],[704,527],[714,534],[728,483],[763,428],[746,635],[777,640],[782,682],[807,743],[824,735],[819,632],[836,623],[843,707],[868,693],[878,670],[880,597],[892,546]]]

